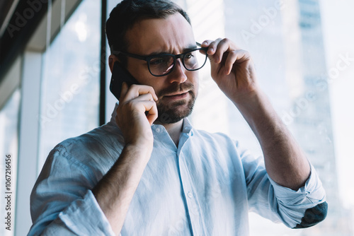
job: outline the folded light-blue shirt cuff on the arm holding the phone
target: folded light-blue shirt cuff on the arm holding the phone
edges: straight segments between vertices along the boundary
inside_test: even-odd
[[[59,213],[59,218],[76,235],[115,236],[91,190],[87,191],[84,199],[74,201]]]

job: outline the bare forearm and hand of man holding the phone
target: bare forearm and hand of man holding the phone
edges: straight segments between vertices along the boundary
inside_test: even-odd
[[[98,205],[119,235],[144,168],[152,153],[151,125],[157,117],[152,87],[123,83],[116,122],[125,138],[120,158],[93,188]],[[149,113],[145,115],[145,112]]]

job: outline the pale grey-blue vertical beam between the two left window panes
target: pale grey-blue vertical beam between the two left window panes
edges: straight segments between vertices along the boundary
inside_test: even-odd
[[[30,192],[37,178],[40,114],[40,73],[42,54],[25,52],[21,86],[21,110],[18,142],[15,235],[27,235],[30,218]]]

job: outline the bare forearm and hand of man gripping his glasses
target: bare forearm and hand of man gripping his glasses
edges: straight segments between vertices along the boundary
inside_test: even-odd
[[[212,78],[256,134],[270,178],[290,189],[302,187],[309,162],[259,88],[249,53],[227,39],[207,40],[202,47],[209,47]]]

